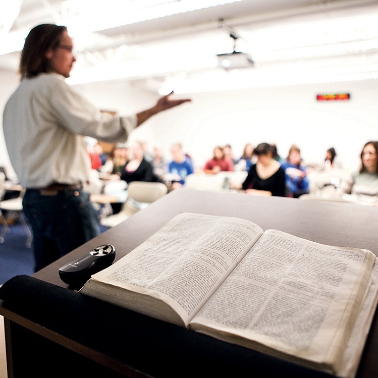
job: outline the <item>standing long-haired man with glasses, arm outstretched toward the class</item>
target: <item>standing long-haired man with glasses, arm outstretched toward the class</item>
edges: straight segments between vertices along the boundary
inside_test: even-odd
[[[73,48],[65,26],[34,27],[21,52],[21,83],[3,115],[11,163],[26,188],[23,208],[33,231],[35,271],[99,232],[82,189],[90,178],[85,136],[125,142],[151,116],[189,101],[167,95],[134,116],[105,118],[65,82],[76,61]]]

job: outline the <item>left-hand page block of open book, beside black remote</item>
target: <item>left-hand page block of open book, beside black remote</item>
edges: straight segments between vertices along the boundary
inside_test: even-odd
[[[155,310],[145,304],[143,308],[140,297],[126,298],[120,290],[113,303],[178,323],[168,318],[166,306],[157,308],[160,300],[186,324],[262,233],[243,219],[181,213],[121,260],[93,275],[81,292],[91,295],[96,281],[128,289],[154,298]],[[106,290],[104,300],[113,300],[112,290]]]

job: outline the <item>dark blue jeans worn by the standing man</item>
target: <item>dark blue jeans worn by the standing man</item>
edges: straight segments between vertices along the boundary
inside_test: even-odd
[[[52,195],[26,189],[23,209],[33,232],[35,272],[99,234],[97,213],[81,189]]]

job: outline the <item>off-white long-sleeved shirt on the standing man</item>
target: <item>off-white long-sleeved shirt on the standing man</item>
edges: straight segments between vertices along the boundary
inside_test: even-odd
[[[136,116],[102,114],[56,73],[23,79],[3,114],[8,153],[25,188],[87,182],[85,136],[125,142],[136,126]]]

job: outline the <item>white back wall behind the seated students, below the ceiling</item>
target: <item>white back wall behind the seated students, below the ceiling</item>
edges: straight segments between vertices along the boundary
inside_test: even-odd
[[[3,78],[3,76],[5,76]],[[18,84],[16,76],[1,75],[0,107]],[[359,164],[359,153],[368,140],[378,139],[378,81],[312,84],[284,88],[253,88],[239,91],[191,94],[191,103],[156,115],[134,131],[130,142],[145,140],[152,149],[182,142],[201,168],[215,145],[232,145],[235,155],[250,142],[276,142],[286,157],[292,143],[305,161],[320,163],[334,146],[349,171]],[[92,83],[76,87],[101,109],[129,114],[154,104],[157,94],[130,83]],[[317,93],[348,92],[349,101],[317,102]],[[180,95],[180,97],[185,95]],[[0,165],[9,165],[0,133]]]

